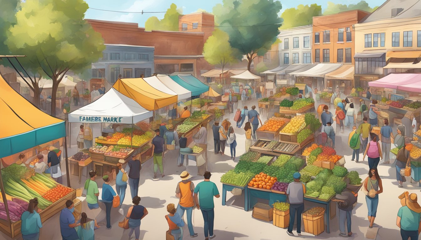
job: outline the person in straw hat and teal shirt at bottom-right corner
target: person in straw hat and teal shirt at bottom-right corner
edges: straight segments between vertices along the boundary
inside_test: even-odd
[[[417,195],[405,192],[398,198],[402,207],[397,213],[396,225],[400,228],[402,240],[417,240],[421,232],[421,206],[417,202]]]

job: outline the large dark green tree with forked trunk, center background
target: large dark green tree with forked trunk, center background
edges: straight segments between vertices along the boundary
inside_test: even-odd
[[[281,9],[281,3],[274,0],[223,0],[213,8],[230,45],[246,55],[248,70],[253,59],[263,56],[277,40]]]

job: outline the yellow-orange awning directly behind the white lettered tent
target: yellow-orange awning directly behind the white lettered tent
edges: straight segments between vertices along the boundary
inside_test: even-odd
[[[177,95],[161,92],[142,78],[118,79],[113,87],[149,111],[177,103]]]

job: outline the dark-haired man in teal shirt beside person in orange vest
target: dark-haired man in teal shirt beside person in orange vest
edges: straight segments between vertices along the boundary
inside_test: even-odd
[[[213,197],[219,198],[219,191],[215,183],[210,182],[210,172],[205,171],[203,176],[205,177],[205,181],[200,182],[195,187],[195,200],[197,209],[202,211],[203,221],[205,222],[205,226],[203,227],[205,230],[205,239],[212,239],[215,237],[215,234],[213,234],[213,219],[215,217]],[[200,201],[197,200],[197,193],[199,193]]]

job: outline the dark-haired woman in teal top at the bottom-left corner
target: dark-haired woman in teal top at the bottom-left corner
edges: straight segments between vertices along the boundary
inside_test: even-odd
[[[38,199],[29,200],[28,211],[24,211],[21,216],[21,232],[24,240],[38,240],[40,237],[41,224],[40,214],[37,213]]]

